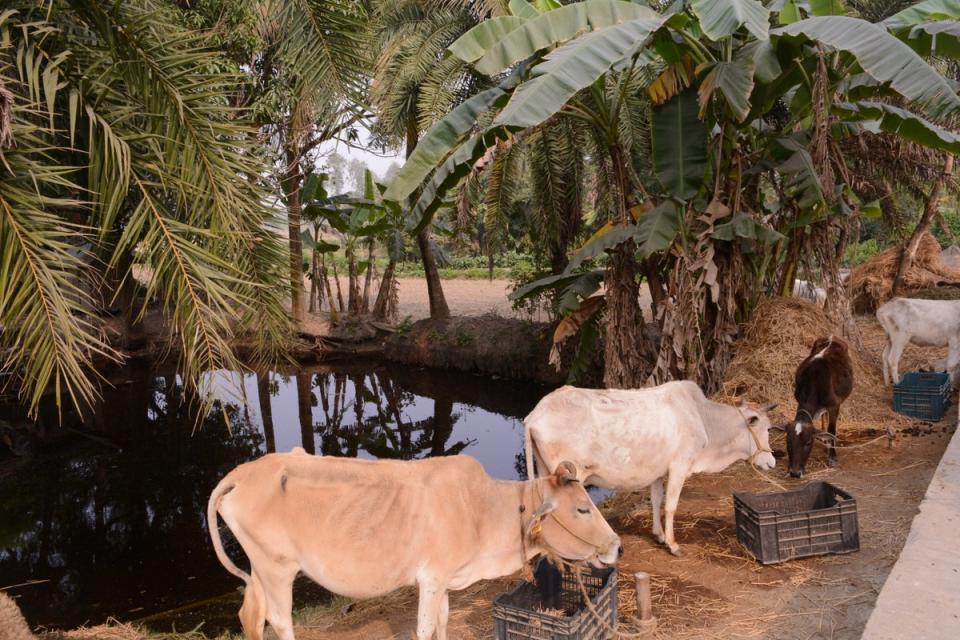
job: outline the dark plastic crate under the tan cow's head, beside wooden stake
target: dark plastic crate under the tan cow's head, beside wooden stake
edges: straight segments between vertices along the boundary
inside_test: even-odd
[[[616,629],[616,568],[584,569],[580,576],[594,609]],[[534,579],[535,584],[524,582],[494,599],[496,640],[609,640],[613,637],[587,609],[572,571],[561,572],[546,560],[540,560]]]

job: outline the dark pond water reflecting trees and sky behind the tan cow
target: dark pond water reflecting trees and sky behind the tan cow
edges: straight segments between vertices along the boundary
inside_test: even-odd
[[[547,392],[377,363],[215,376],[219,399],[198,425],[170,370],[124,369],[92,411],[62,424],[52,406],[28,421],[0,405],[0,589],[16,585],[7,593],[32,626],[115,617],[236,630],[240,583],[217,561],[204,515],[233,467],[298,446],[362,458],[462,452],[516,479],[522,417]],[[228,552],[246,565],[238,546]],[[295,595],[323,597],[300,582]]]

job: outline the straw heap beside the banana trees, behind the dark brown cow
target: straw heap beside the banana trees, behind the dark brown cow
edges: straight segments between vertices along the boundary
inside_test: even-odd
[[[875,434],[888,426],[902,428],[913,420],[893,411],[893,390],[883,384],[880,352],[885,336],[876,319],[858,320],[867,351],[850,348],[853,361],[853,393],[840,409],[841,433],[856,439]],[[754,310],[750,324],[737,344],[736,356],[718,394],[718,400],[743,398],[756,403],[776,402],[779,407],[771,416],[774,424],[793,418],[797,403],[793,398],[793,376],[817,338],[829,335],[842,337],[839,327],[812,302],[798,298],[768,298]],[[931,356],[926,351],[911,351],[901,360],[901,371],[925,366]],[[843,439],[843,436],[841,436]]]

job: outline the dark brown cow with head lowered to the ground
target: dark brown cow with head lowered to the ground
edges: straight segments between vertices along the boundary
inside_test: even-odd
[[[826,440],[828,463],[837,464],[837,416],[840,405],[853,391],[853,364],[847,343],[835,336],[818,338],[810,355],[797,367],[793,397],[797,413],[793,424],[785,427],[790,475],[802,478],[815,440]],[[824,413],[829,418],[829,433],[814,426]]]

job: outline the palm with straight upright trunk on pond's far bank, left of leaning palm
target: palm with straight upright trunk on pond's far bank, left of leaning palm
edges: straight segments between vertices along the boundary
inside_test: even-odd
[[[258,38],[247,55],[256,83],[245,97],[272,143],[287,210],[290,306],[303,320],[302,190],[324,143],[366,116],[371,60],[367,12],[352,0],[248,0]]]

